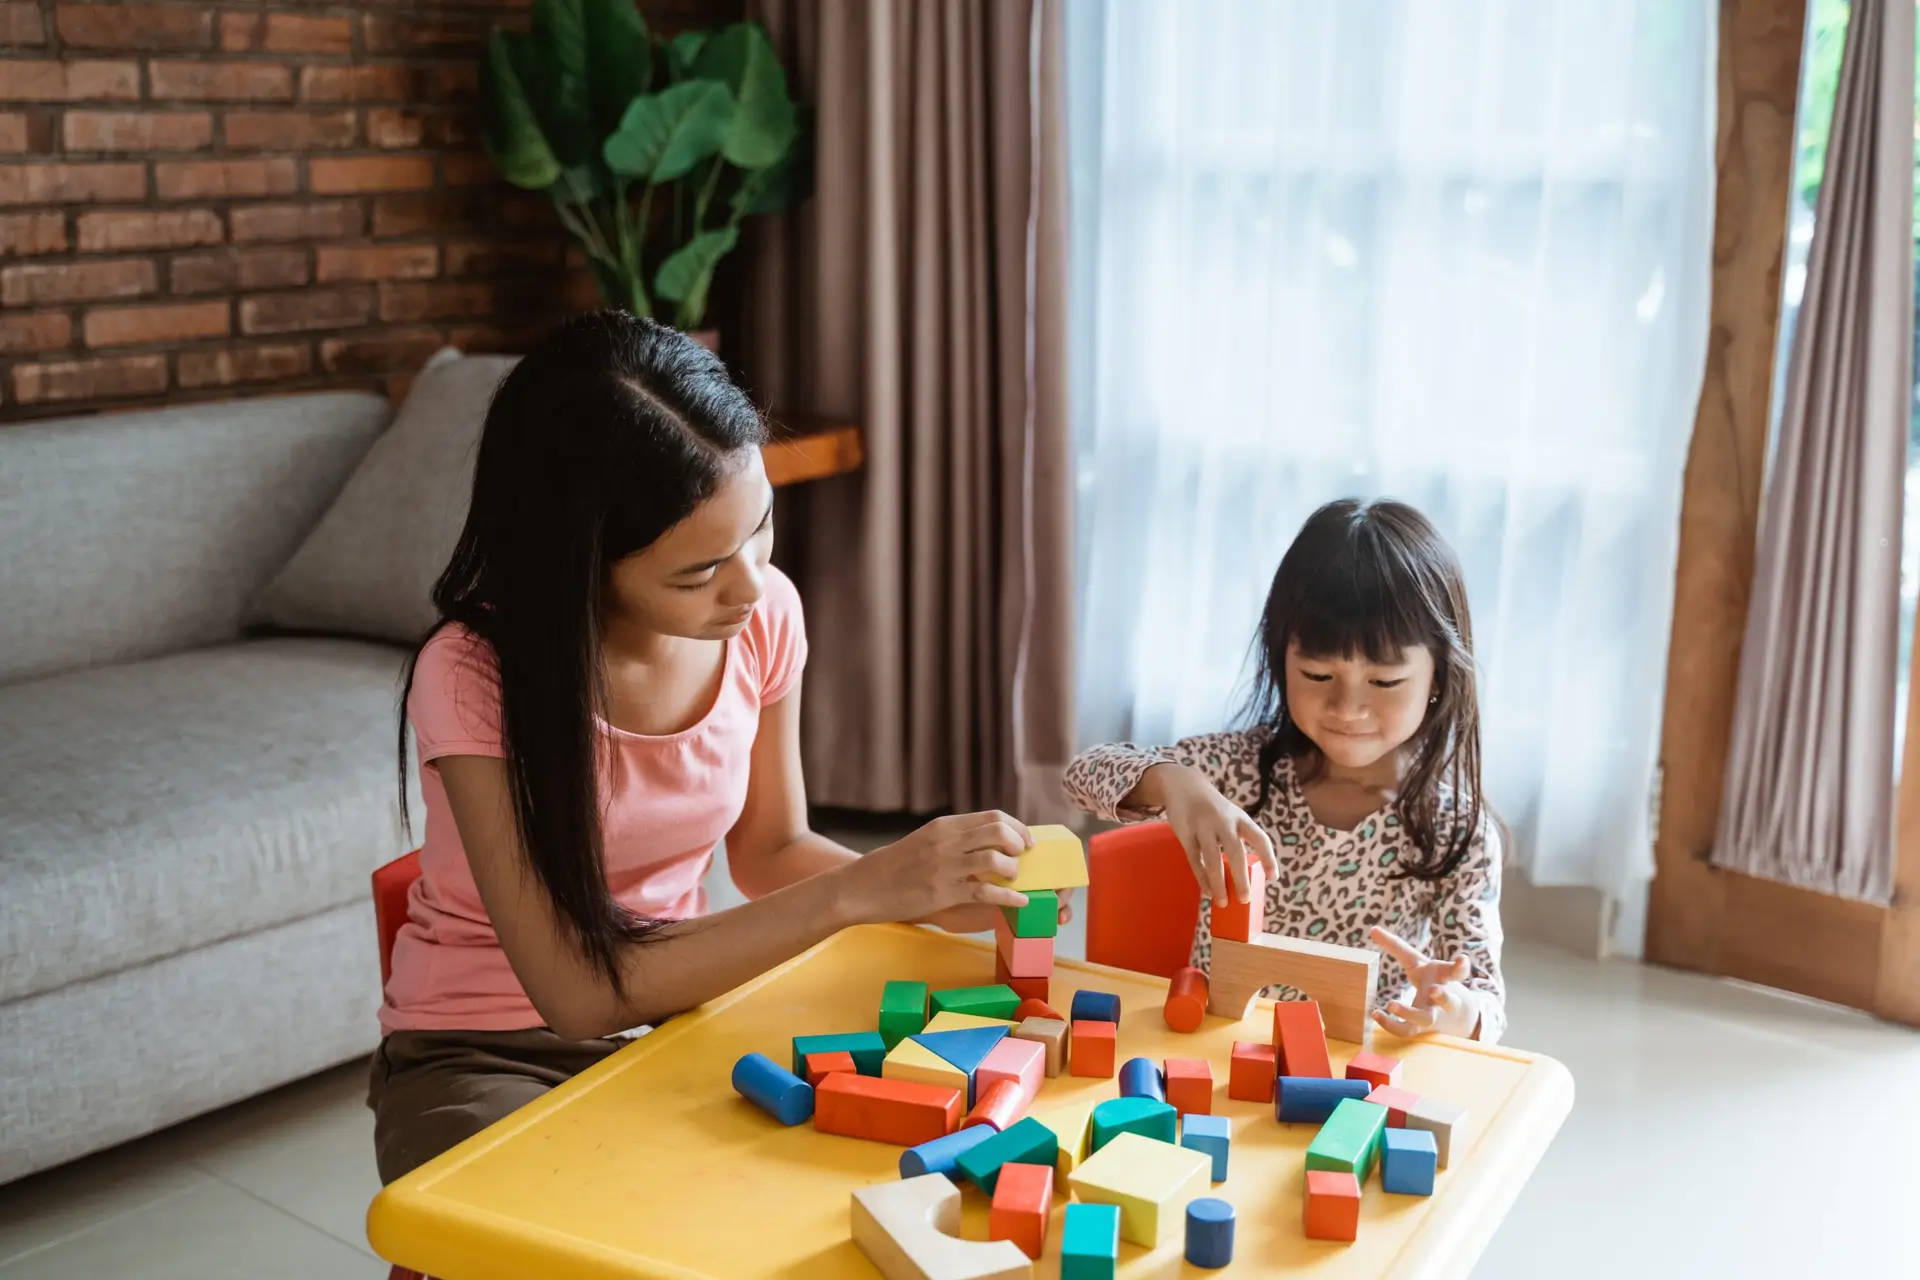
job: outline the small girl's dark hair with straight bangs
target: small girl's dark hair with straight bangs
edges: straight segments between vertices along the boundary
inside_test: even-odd
[[[1258,810],[1281,756],[1325,762],[1286,714],[1286,649],[1317,658],[1396,662],[1425,647],[1434,656],[1434,702],[1413,735],[1402,777],[1400,821],[1419,860],[1398,875],[1438,881],[1467,856],[1480,829],[1480,706],[1473,676],[1467,580],[1452,547],[1405,503],[1342,499],[1315,510],[1281,558],[1256,643],[1246,718],[1269,729],[1260,748]],[[1442,785],[1452,802],[1442,802]]]

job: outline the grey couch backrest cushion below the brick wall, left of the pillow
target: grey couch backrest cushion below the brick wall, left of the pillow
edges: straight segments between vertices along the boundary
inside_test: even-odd
[[[0,430],[0,681],[236,639],[388,416],[353,391]]]

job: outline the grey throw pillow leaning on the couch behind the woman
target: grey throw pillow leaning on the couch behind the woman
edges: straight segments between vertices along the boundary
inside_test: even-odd
[[[516,357],[445,349],[367,451],[319,528],[261,593],[252,618],[296,631],[413,643],[472,499],[474,451]]]

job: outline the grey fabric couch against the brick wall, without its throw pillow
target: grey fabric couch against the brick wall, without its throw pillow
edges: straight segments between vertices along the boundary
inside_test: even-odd
[[[0,428],[0,1182],[374,1046],[405,654],[242,620],[388,416]]]

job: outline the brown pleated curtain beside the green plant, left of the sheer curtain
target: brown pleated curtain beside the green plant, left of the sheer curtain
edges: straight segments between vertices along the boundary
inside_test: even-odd
[[[1073,747],[1058,0],[764,0],[814,198],[749,244],[739,363],[858,422],[781,497],[816,804],[1062,816]]]

